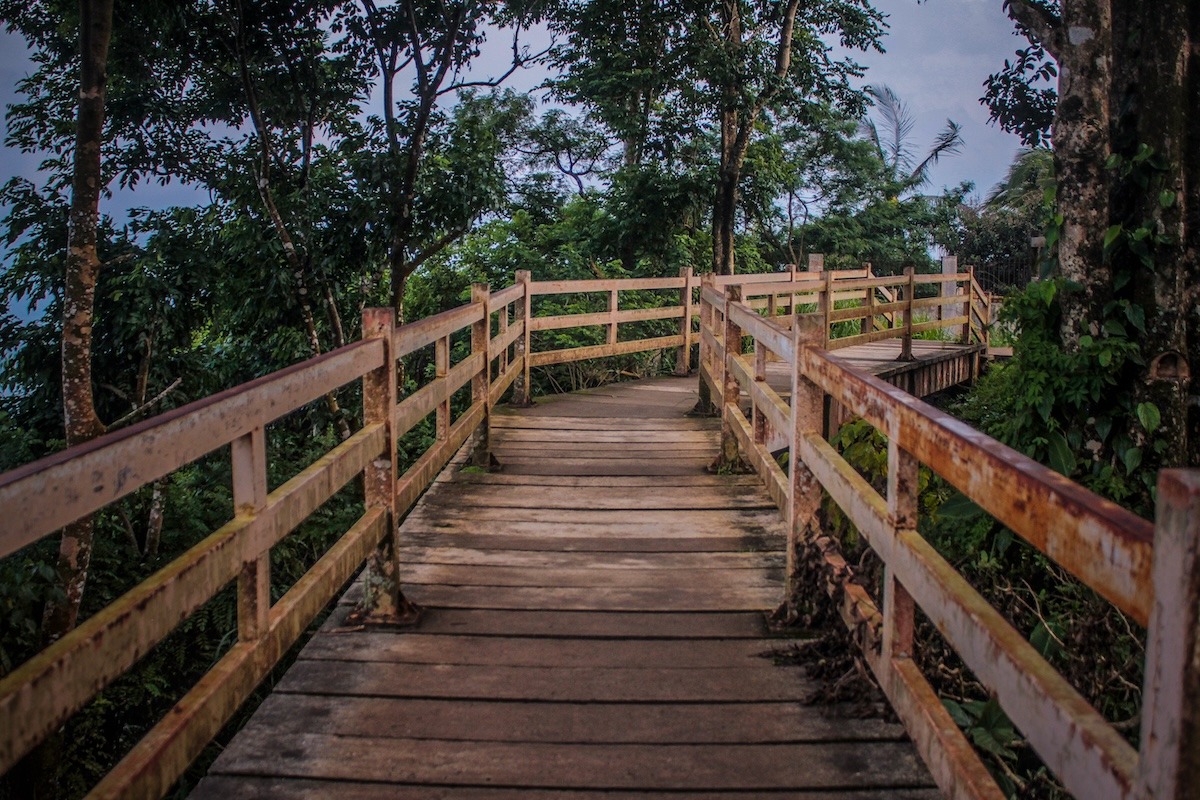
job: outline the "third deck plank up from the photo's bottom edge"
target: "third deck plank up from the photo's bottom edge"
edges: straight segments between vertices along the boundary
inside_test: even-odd
[[[323,733],[445,741],[562,741],[576,744],[773,744],[898,741],[904,729],[882,720],[814,714],[796,703],[638,704],[492,703],[322,696],[274,696],[263,702],[248,735]]]

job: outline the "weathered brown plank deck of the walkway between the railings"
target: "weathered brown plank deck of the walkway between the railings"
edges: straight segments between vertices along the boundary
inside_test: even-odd
[[[900,726],[806,706],[773,662],[782,523],[704,471],[695,390],[497,414],[503,470],[448,470],[402,527],[419,628],[335,613],[193,796],[937,796]]]

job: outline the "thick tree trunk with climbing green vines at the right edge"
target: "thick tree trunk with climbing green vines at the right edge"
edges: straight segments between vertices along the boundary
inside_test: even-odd
[[[1102,367],[1118,368],[1130,389],[1098,413],[1120,421],[1138,459],[1145,451],[1156,465],[1200,464],[1200,409],[1188,403],[1200,390],[1200,320],[1190,313],[1200,285],[1200,13],[1187,0],[1009,0],[1007,8],[1055,65],[1028,59],[1008,83],[1020,78],[1026,91],[1058,77],[1049,235],[1058,339],[1072,354],[1128,342],[1127,361]],[[1042,136],[1044,119],[1013,115],[1022,108],[1014,96],[990,91],[994,116],[1027,142]],[[1118,437],[1093,434],[1106,446]]]

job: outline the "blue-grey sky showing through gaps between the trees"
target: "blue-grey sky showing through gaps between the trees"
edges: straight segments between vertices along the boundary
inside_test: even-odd
[[[929,190],[953,187],[972,181],[978,196],[985,196],[998,182],[1018,149],[1016,137],[988,125],[988,110],[979,104],[984,79],[1003,64],[1020,44],[1013,25],[1001,10],[1001,0],[875,0],[888,16],[890,30],[884,40],[886,53],[859,54],[868,67],[864,83],[886,84],[907,103],[916,118],[914,149],[923,152],[934,137],[953,119],[962,126],[965,146],[960,155],[943,160],[931,173]],[[532,43],[539,47],[534,36]],[[505,60],[509,42],[498,38],[490,53]],[[16,100],[17,82],[32,71],[19,37],[0,31],[0,106]],[[484,65],[486,72],[486,65]],[[544,73],[532,71],[510,80],[512,88],[527,90],[540,83]],[[2,125],[7,138],[7,121]],[[38,157],[0,149],[0,182],[13,175],[37,180]],[[120,207],[161,207],[174,203],[196,201],[193,190],[173,182],[168,187],[142,184],[136,192],[118,192],[106,203],[113,212]],[[114,215],[118,216],[119,215]]]

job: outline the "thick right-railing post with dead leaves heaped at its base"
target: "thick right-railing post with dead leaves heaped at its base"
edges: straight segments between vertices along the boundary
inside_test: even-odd
[[[800,456],[800,443],[810,435],[820,435],[824,427],[824,396],[821,387],[804,374],[804,353],[823,347],[824,320],[820,314],[802,314],[792,327],[792,429],[788,432],[787,469],[790,487],[787,494],[787,564],[786,596],[787,619],[794,620],[799,613],[800,597],[805,590],[821,591],[817,587],[805,587],[803,575],[804,542],[817,533],[817,511],[821,507],[821,485],[805,465]]]

